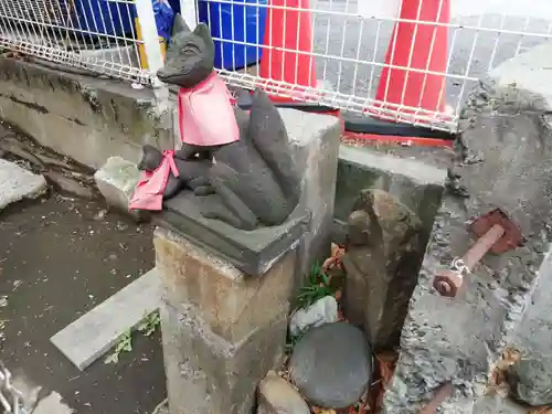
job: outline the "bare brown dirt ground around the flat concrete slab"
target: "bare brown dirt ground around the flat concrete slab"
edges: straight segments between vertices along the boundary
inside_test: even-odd
[[[117,364],[78,371],[50,338],[153,266],[151,229],[51,193],[0,213],[0,358],[76,413],[151,413],[164,399],[159,332]]]

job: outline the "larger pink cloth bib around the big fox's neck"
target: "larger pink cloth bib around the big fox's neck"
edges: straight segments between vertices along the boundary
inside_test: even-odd
[[[182,142],[205,147],[240,139],[230,92],[215,72],[193,88],[181,88],[178,105]]]

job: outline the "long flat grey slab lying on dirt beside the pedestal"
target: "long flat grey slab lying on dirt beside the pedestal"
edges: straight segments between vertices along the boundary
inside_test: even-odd
[[[51,342],[81,371],[107,352],[128,329],[159,308],[156,268],[54,335]]]

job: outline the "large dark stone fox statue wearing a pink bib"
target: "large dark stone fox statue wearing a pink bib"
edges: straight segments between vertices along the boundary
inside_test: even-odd
[[[242,230],[282,224],[297,206],[301,184],[282,117],[261,89],[250,115],[233,108],[213,62],[208,26],[199,24],[192,32],[177,15],[158,76],[181,87],[183,146],[173,155],[178,178],[170,173],[163,199],[188,188],[201,199],[205,217]],[[155,170],[162,159],[147,146],[140,168]]]

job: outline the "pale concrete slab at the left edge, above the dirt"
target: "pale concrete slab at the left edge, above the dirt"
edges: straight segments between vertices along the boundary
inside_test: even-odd
[[[0,210],[23,199],[36,199],[46,191],[44,177],[0,159]]]

